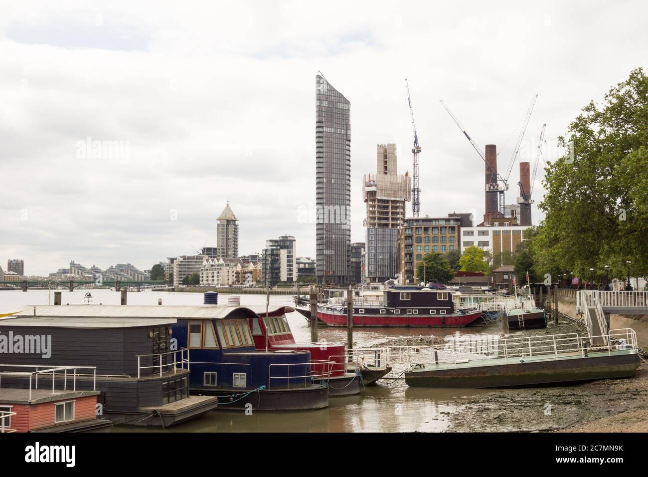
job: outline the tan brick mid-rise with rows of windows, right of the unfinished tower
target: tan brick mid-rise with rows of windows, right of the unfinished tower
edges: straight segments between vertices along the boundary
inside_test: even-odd
[[[399,230],[400,283],[417,282],[416,267],[429,252],[459,250],[460,217],[412,217]]]

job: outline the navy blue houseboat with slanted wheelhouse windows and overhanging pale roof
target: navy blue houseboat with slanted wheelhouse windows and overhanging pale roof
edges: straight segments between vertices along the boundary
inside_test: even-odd
[[[207,300],[207,297],[205,297]],[[329,362],[305,349],[257,349],[262,334],[260,308],[247,306],[157,306],[172,316],[178,347],[189,350],[189,388],[194,395],[213,395],[222,410],[312,410],[329,404],[321,385],[330,376]],[[270,309],[273,317],[292,311]]]

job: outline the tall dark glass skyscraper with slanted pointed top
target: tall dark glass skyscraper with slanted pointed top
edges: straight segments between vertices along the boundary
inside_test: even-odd
[[[343,284],[351,275],[351,103],[321,75],[315,86],[317,276]]]

